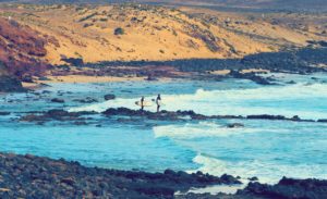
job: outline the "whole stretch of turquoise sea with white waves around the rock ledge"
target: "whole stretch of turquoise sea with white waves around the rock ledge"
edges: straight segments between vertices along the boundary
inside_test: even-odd
[[[141,96],[150,101],[161,94],[166,110],[194,110],[213,114],[282,114],[302,119],[327,119],[327,77],[276,74],[279,85],[258,86],[249,80],[55,84],[50,94],[0,96],[0,151],[34,153],[76,160],[88,166],[121,170],[204,171],[242,178],[258,176],[275,183],[282,176],[327,178],[327,124],[261,120],[210,120],[189,122],[129,121],[96,115],[88,125],[70,122],[45,125],[22,123],[26,111],[63,108],[70,111],[137,109]],[[296,84],[287,84],[293,79]],[[41,92],[39,90],[37,92]],[[118,99],[104,101],[106,94]],[[49,102],[51,98],[66,103]],[[74,99],[93,97],[97,103]],[[154,110],[155,107],[148,108]],[[230,123],[242,128],[227,128]],[[99,126],[100,125],[100,126]],[[97,127],[98,126],[98,127]]]

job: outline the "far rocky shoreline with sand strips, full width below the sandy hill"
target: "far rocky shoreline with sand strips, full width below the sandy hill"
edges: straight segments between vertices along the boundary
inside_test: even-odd
[[[246,55],[242,59],[190,59],[171,61],[108,61],[100,63],[84,63],[81,59],[69,59],[68,65],[49,67],[47,74],[51,76],[82,75],[93,77],[144,77],[144,80],[159,78],[187,78],[196,80],[221,80],[223,78],[250,79],[259,85],[278,84],[274,77],[263,77],[262,72],[243,73],[245,70],[264,70],[272,73],[312,74],[327,72],[327,48],[302,48],[281,52],[266,52]],[[71,65],[69,65],[71,64]],[[322,66],[323,65],[323,66]],[[43,69],[40,66],[40,69]],[[215,71],[229,71],[225,75],[215,74]],[[27,91],[21,85],[38,83],[48,79],[45,69],[32,72],[22,72],[20,76],[2,78],[0,91]],[[10,73],[12,74],[12,73]],[[15,82],[13,82],[15,79]],[[16,85],[16,86],[11,86]]]

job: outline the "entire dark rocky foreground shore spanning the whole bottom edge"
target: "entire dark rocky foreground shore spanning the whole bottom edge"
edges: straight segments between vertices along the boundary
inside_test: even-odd
[[[327,181],[282,178],[277,185],[250,183],[235,195],[185,194],[190,188],[241,184],[239,177],[117,171],[32,154],[0,153],[0,198],[312,198],[327,196]]]

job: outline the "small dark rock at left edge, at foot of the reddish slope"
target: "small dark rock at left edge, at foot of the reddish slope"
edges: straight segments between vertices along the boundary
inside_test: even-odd
[[[22,83],[10,76],[0,76],[0,92],[24,92],[26,89]]]

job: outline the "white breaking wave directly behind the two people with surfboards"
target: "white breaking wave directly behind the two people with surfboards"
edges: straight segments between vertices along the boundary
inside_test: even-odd
[[[150,101],[155,96],[148,96]],[[168,111],[193,110],[205,115],[250,115],[281,114],[299,115],[303,119],[327,117],[327,85],[296,84],[289,86],[259,87],[251,89],[204,90],[198,89],[192,95],[162,96]],[[125,107],[138,109],[135,101],[140,99],[119,98],[112,101],[73,108],[70,111],[102,112],[108,108]],[[147,110],[155,111],[155,105]]]

